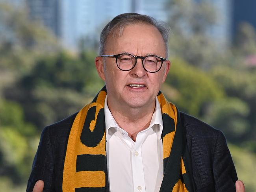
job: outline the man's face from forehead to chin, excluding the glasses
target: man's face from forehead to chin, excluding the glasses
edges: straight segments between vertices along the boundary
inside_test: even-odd
[[[124,28],[121,37],[109,37],[105,54],[115,55],[128,53],[135,56],[157,55],[165,57],[165,44],[160,32],[152,25],[132,24]],[[155,102],[161,84],[169,71],[170,61],[164,61],[162,68],[156,73],[144,70],[142,60],[130,71],[122,71],[117,67],[116,59],[96,57],[96,68],[105,81],[108,91],[108,104],[115,103],[119,107],[143,107]],[[132,85],[135,85],[132,86]],[[140,87],[137,87],[137,86]]]

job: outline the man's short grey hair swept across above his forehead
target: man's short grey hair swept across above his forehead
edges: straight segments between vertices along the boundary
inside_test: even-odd
[[[109,35],[113,35],[113,37],[119,35],[119,37],[121,37],[125,26],[138,23],[149,24],[158,29],[163,37],[163,41],[165,42],[165,56],[167,58],[169,55],[168,40],[170,27],[165,22],[157,21],[153,17],[138,13],[123,13],[121,15],[117,15],[104,27],[100,33],[100,55],[104,55],[106,42]]]

